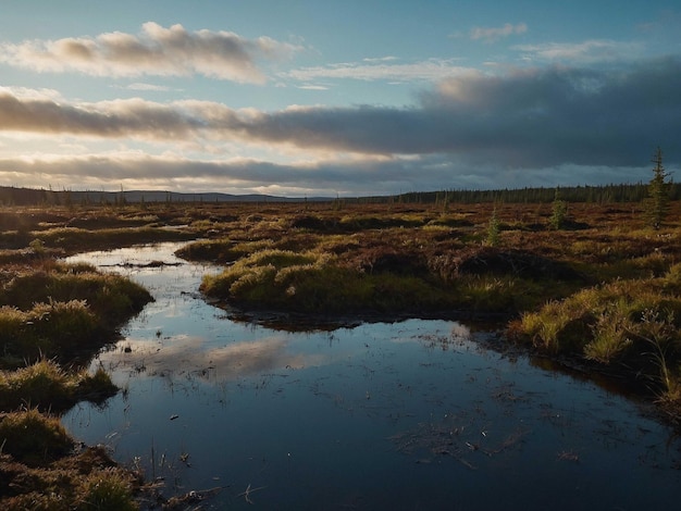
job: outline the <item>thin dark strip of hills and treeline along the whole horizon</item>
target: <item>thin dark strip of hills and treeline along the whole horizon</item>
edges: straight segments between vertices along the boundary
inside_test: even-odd
[[[411,191],[396,196],[375,196],[359,198],[299,198],[228,195],[228,194],[178,194],[170,191],[71,191],[0,186],[0,205],[123,205],[128,203],[159,202],[295,202],[295,201],[343,201],[348,203],[546,203],[556,199],[567,202],[640,202],[648,196],[648,185],[644,183],[602,185],[602,186],[564,186],[554,188],[512,188],[497,190],[441,190]],[[669,184],[670,200],[681,199],[681,184]]]

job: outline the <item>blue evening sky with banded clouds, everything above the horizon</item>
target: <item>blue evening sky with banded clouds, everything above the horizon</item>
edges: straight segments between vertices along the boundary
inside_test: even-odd
[[[5,186],[647,183],[658,147],[673,179],[678,0],[0,0]]]

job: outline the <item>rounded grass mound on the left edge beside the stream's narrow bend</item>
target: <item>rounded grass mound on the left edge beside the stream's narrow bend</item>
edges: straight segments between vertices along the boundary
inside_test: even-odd
[[[5,367],[98,349],[151,300],[141,286],[87,264],[48,260],[3,277],[0,361]]]

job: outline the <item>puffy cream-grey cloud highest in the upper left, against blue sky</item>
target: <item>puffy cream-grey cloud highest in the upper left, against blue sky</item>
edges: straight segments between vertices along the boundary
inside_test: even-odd
[[[139,35],[121,32],[95,38],[0,43],[0,62],[38,72],[95,76],[189,76],[262,84],[260,60],[287,59],[300,47],[269,37],[246,39],[231,32],[188,32],[182,25],[145,23]]]

